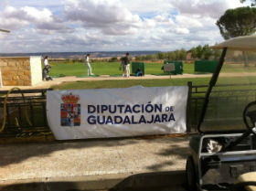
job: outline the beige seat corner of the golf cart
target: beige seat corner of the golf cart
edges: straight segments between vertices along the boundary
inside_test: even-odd
[[[232,191],[256,191],[256,172],[246,173],[238,177]]]

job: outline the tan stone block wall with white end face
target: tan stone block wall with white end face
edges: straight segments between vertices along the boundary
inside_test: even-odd
[[[37,61],[32,62],[30,57],[0,58],[0,67],[4,86],[32,86],[42,81],[40,57],[37,57]],[[39,73],[39,78],[32,78],[38,76],[38,74],[34,74],[35,72]]]

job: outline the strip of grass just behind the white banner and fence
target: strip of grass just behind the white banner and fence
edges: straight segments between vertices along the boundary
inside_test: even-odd
[[[155,79],[155,80],[101,80],[101,81],[75,81],[65,82],[57,86],[53,86],[53,89],[59,90],[79,90],[79,89],[104,89],[104,88],[129,88],[132,86],[144,86],[144,87],[163,87],[163,86],[187,86],[188,81],[192,81],[193,86],[208,85],[210,78],[189,78],[189,79]],[[237,86],[218,87],[218,85],[225,84],[238,84]],[[242,84],[242,85],[239,85]],[[244,85],[248,84],[248,85]],[[213,90],[251,90],[254,86],[250,84],[256,84],[255,77],[219,77],[217,81],[217,87]],[[207,90],[207,88],[201,89]]]

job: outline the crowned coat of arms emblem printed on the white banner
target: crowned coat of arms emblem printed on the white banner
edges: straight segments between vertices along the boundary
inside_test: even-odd
[[[61,126],[80,126],[80,97],[78,95],[62,95],[60,103]]]

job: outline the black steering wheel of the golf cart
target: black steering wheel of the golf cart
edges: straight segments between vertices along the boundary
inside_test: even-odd
[[[243,122],[249,131],[256,134],[256,101],[250,102],[243,111]]]

